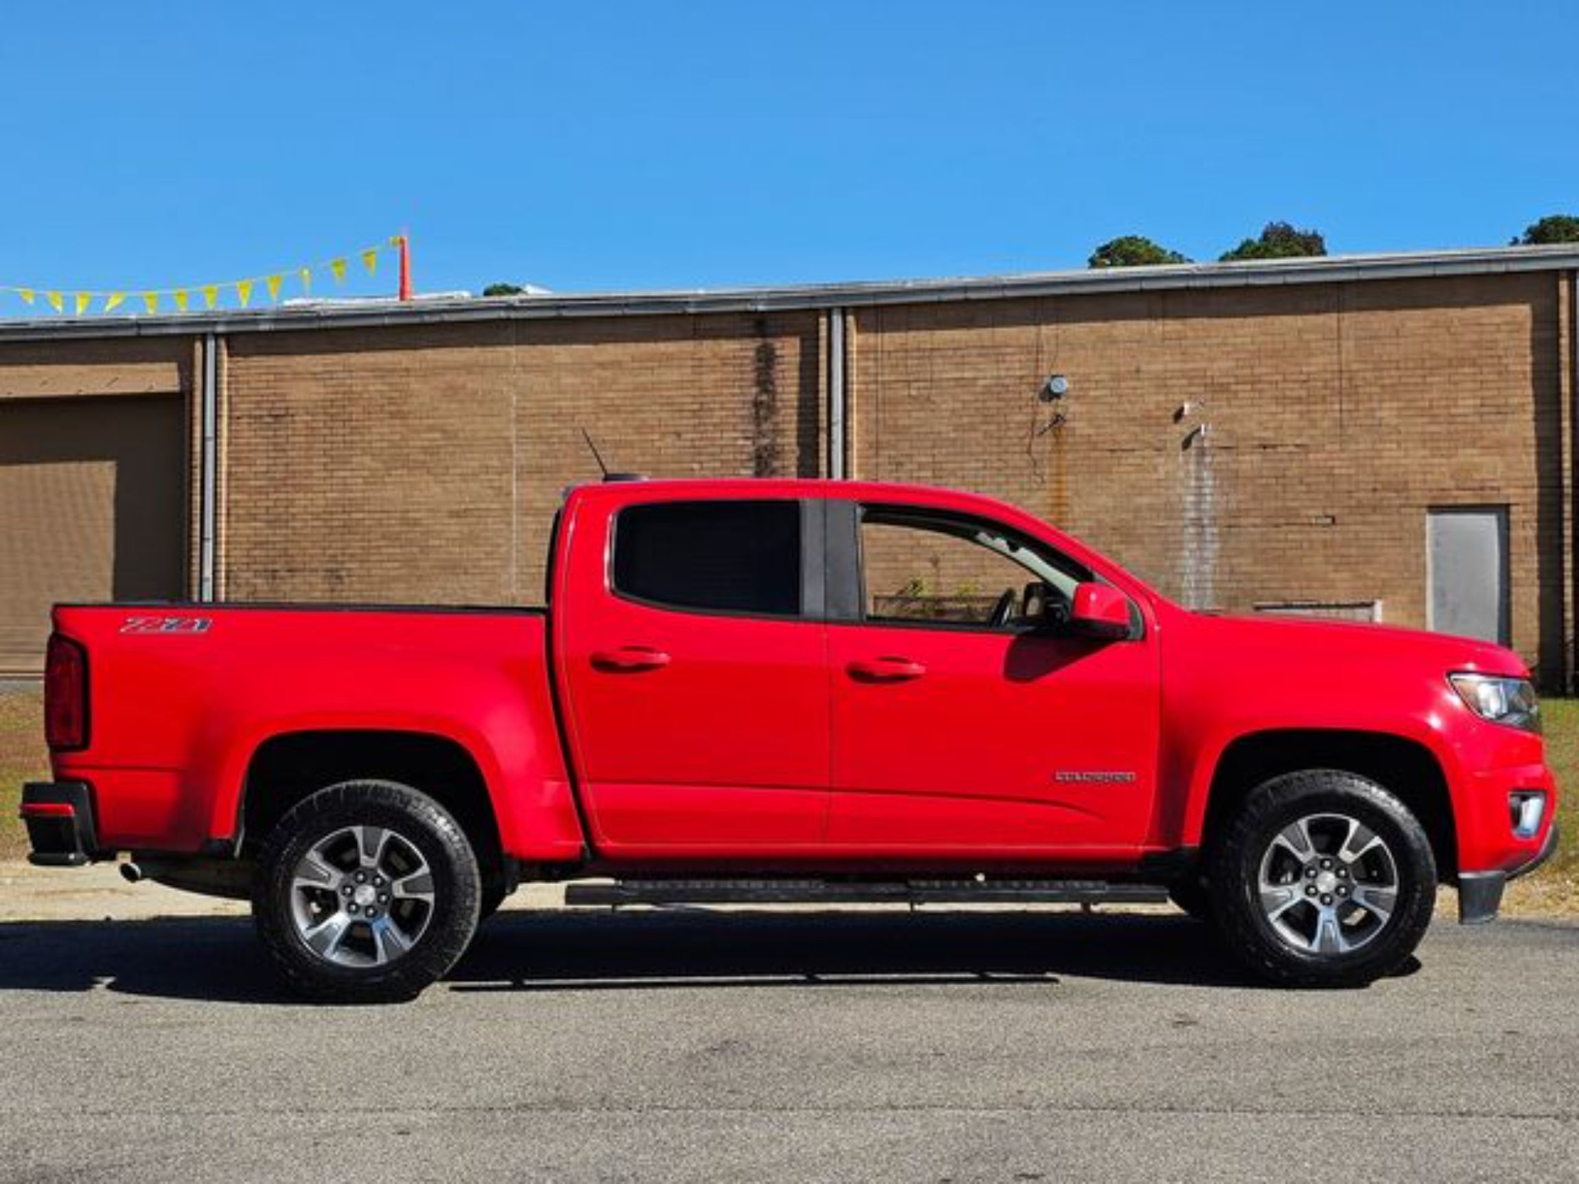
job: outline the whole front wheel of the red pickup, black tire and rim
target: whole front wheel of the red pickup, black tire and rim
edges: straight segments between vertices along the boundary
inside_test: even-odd
[[[1348,822],[1369,837],[1350,830],[1352,838],[1339,841]],[[1307,856],[1284,838],[1292,832],[1307,840]],[[1371,854],[1350,862],[1347,852],[1358,846]],[[1274,884],[1265,905],[1263,870]],[[1206,890],[1219,933],[1258,977],[1290,987],[1364,987],[1397,971],[1424,936],[1437,864],[1424,829],[1397,797],[1364,777],[1314,769],[1251,791],[1211,845]]]

